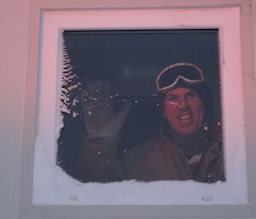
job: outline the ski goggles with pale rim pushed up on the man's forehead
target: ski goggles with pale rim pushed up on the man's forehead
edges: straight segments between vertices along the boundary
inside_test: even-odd
[[[159,73],[155,80],[157,91],[165,93],[175,88],[179,80],[183,80],[187,84],[200,84],[205,79],[198,66],[189,62],[179,62],[167,66]]]

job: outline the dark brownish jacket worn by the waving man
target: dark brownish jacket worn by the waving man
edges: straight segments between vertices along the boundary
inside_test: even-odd
[[[84,136],[74,165],[81,182],[195,180],[224,181],[221,141],[213,138],[191,170],[183,152],[165,136],[145,142],[117,156],[117,139],[90,140]]]

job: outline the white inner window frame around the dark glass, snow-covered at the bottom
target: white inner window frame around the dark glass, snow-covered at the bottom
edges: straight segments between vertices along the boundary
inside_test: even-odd
[[[31,139],[29,142],[33,145],[32,148],[35,147],[34,174],[32,176],[31,172],[27,170],[24,172],[25,176],[32,177],[33,188],[31,184],[26,185],[26,181],[23,180],[24,191],[29,191],[29,193],[26,195],[24,192],[21,193],[21,199],[26,197],[26,201],[20,203],[21,211],[27,209],[28,205],[32,205],[33,214],[38,216],[41,214],[40,209],[43,208],[46,210],[47,216],[79,217],[84,216],[86,209],[85,215],[90,217],[95,214],[95,207],[100,210],[97,211],[99,212],[97,216],[103,217],[124,216],[125,214],[149,216],[146,213],[148,209],[156,210],[157,216],[169,215],[170,210],[172,210],[172,216],[191,216],[191,214],[193,216],[208,216],[208,210],[218,208],[221,216],[227,214],[234,216],[234,212],[236,216],[245,216],[248,199],[246,145],[242,114],[239,13],[238,7],[221,9],[156,9],[154,7],[152,9],[90,9],[86,10],[86,13],[82,9],[44,10],[38,74],[38,135],[36,141],[34,136],[30,135],[29,137]],[[201,19],[202,17],[204,19]],[[230,17],[233,17],[234,20],[230,20]],[[223,115],[227,181],[211,185],[198,182],[178,182],[178,184],[175,182],[150,182],[148,184],[121,182],[121,184],[102,185],[80,183],[67,176],[67,173],[56,165],[57,139],[60,136],[61,125],[63,125],[61,112],[58,110],[61,106],[61,86],[59,85],[61,82],[62,33],[99,30],[106,32],[113,30],[139,30],[141,32],[145,30],[180,30],[185,32],[192,29],[213,30],[213,33],[218,34],[219,38],[218,57],[222,91],[220,99],[222,100],[221,113]],[[58,64],[56,65],[56,63]],[[218,67],[218,65],[214,65],[214,67],[216,66]],[[160,68],[160,66],[155,66],[155,68]],[[143,68],[140,70],[143,72]],[[234,89],[235,87],[237,89]],[[32,129],[32,126],[30,124],[29,128]],[[33,155],[31,152],[28,154],[30,154],[31,160]],[[25,166],[26,164],[27,162],[25,162]],[[238,178],[236,177],[237,171],[240,176]],[[160,187],[161,190],[159,190]],[[138,191],[139,197],[143,197],[143,199],[138,197]],[[187,193],[184,193],[185,191]],[[179,195],[166,196],[166,192]],[[96,193],[100,195],[95,196]],[[93,199],[91,199],[92,197]],[[53,205],[54,210],[43,205]],[[61,205],[65,205],[65,210]],[[79,208],[78,205],[83,205],[85,209]],[[120,208],[114,205],[119,205]],[[131,205],[137,205],[134,206],[136,209],[134,214],[131,214],[133,211]],[[225,205],[229,207],[226,208]],[[177,206],[181,207],[183,212],[178,210]],[[191,208],[199,213],[188,213]],[[29,214],[29,212],[24,214]],[[218,215],[214,214],[214,216]]]

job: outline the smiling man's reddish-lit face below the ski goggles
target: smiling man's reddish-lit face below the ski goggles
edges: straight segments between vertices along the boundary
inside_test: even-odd
[[[178,135],[189,135],[201,127],[205,116],[201,98],[193,90],[176,88],[164,100],[164,117]]]

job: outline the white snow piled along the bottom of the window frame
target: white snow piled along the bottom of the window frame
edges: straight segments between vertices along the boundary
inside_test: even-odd
[[[57,165],[50,164],[45,150],[38,139],[33,205],[241,205],[247,202],[246,196],[234,193],[230,182],[78,182]]]

